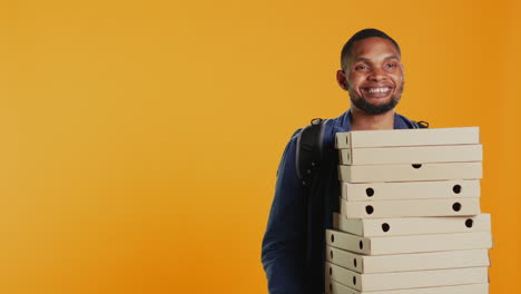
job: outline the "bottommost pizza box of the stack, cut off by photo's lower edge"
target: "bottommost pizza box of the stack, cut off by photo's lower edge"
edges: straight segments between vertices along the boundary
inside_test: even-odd
[[[456,286],[438,286],[407,290],[360,292],[326,277],[326,294],[489,294],[489,284],[468,284]]]

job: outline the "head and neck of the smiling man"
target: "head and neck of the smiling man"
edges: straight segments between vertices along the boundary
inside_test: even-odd
[[[358,35],[379,37],[355,38]],[[344,46],[341,56],[342,69],[336,72],[336,80],[350,92],[352,129],[393,128],[393,109],[404,84],[399,45],[383,32],[363,30]],[[371,121],[381,124],[363,124],[367,115]],[[363,119],[358,121],[358,117]]]

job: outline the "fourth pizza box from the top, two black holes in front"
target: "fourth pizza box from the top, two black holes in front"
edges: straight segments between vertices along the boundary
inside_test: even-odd
[[[347,202],[479,198],[479,179],[394,182],[394,183],[342,183],[342,197]]]

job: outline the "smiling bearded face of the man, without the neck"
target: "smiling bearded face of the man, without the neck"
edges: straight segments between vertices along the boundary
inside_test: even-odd
[[[377,37],[356,41],[344,70],[352,106],[360,110],[381,115],[400,101],[403,66],[391,41]]]

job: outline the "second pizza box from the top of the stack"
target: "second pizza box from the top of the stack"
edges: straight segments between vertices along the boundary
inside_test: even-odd
[[[473,145],[403,146],[341,149],[341,165],[396,165],[482,161],[483,147]]]

